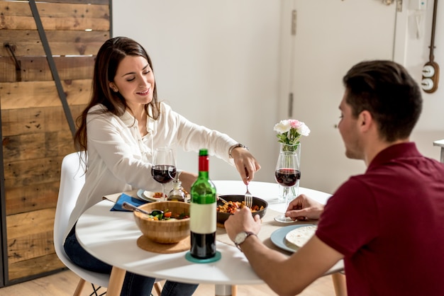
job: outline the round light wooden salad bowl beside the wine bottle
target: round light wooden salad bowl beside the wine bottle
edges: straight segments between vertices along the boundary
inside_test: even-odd
[[[142,210],[170,210],[172,214],[187,213],[189,203],[179,201],[158,201],[138,206]],[[189,218],[181,220],[148,220],[148,216],[141,212],[133,212],[135,224],[148,239],[160,244],[174,244],[189,236]]]

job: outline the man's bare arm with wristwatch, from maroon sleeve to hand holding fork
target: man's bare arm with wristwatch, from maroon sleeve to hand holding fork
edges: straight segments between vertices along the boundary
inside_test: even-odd
[[[242,231],[257,234],[260,219],[256,216],[253,220],[250,210],[243,208],[228,218],[225,227],[231,239]],[[290,257],[267,248],[254,235],[245,239],[240,248],[255,273],[279,295],[299,294],[343,258],[316,236]]]

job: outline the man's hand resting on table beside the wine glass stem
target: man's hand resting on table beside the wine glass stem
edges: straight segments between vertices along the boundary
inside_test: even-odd
[[[301,194],[289,203],[285,216],[292,218],[292,220],[317,220],[321,217],[322,212],[323,204]]]

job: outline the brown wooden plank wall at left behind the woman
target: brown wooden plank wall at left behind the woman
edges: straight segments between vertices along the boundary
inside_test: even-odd
[[[89,100],[94,55],[109,39],[110,1],[36,4],[74,120]],[[0,42],[9,285],[64,267],[52,227],[60,164],[74,145],[28,1],[0,1]]]

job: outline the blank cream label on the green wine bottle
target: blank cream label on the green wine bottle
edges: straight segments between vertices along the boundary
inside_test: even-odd
[[[216,203],[191,203],[189,206],[189,230],[198,234],[216,232]]]

